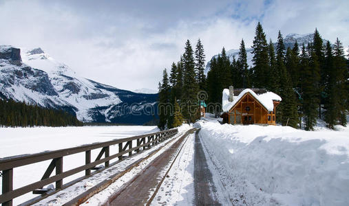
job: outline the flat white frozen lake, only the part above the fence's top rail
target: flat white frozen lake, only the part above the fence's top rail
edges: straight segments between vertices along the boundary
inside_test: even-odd
[[[155,131],[156,126],[0,128],[0,158],[70,148]]]

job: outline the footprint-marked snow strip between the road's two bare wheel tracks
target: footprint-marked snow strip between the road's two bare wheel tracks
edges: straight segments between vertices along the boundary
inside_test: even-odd
[[[151,205],[192,205],[195,133],[189,135]]]

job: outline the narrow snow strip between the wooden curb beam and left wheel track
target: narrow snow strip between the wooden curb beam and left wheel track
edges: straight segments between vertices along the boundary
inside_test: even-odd
[[[176,137],[173,137],[173,138],[181,137],[190,128],[191,128],[191,126],[189,126],[188,124],[183,124],[182,126],[180,126],[178,128],[178,135],[176,135]],[[103,203],[105,203],[107,201],[107,199],[109,198],[109,196],[111,196],[112,194],[117,192],[120,189],[120,187],[123,186],[124,183],[127,183],[128,181],[131,181],[131,179],[133,179],[134,176],[136,176],[136,174],[138,174],[139,172],[141,172],[142,170],[147,168],[147,165],[149,163],[151,163],[151,161],[153,161],[159,155],[161,155],[162,152],[165,152],[165,150],[170,148],[176,141],[177,140],[172,141],[171,143],[169,143],[166,146],[162,147],[160,149],[160,151],[156,152],[156,154],[152,155],[151,157],[149,157],[148,159],[146,159],[145,161],[140,163],[140,165],[132,168],[129,172],[127,172],[126,174],[121,176],[119,179],[117,179],[114,183],[109,185],[109,187],[105,188],[105,190],[103,190],[101,192],[98,192],[97,194],[95,194],[94,196],[89,198],[85,203],[83,203],[81,205],[102,205]],[[164,168],[164,171],[166,171],[167,169],[168,168]],[[151,195],[152,194],[150,194],[150,196]]]

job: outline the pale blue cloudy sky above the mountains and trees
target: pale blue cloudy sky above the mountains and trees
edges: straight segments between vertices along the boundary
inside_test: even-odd
[[[157,90],[187,39],[204,45],[206,60],[251,47],[260,21],[267,39],[282,34],[338,37],[349,45],[349,1],[10,1],[0,0],[0,45],[36,48],[79,76],[120,89]]]

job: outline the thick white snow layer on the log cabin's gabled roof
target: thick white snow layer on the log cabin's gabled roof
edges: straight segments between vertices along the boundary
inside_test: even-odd
[[[229,102],[229,89],[223,89],[222,93],[222,109],[224,112],[229,111],[239,100],[246,94],[251,93],[256,100],[258,100],[268,111],[273,111],[274,104],[273,100],[275,101],[281,101],[279,95],[276,93],[273,93],[271,91],[268,91],[266,93],[262,93],[260,95],[257,95],[254,91],[251,89],[244,89],[239,95],[234,96],[233,102]]]

